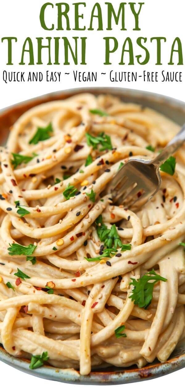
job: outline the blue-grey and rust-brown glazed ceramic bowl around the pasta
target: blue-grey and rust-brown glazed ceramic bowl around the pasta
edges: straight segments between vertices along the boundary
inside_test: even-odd
[[[0,110],[0,144],[5,144],[9,128],[25,111],[44,102],[62,100],[79,93],[112,94],[124,102],[134,102],[155,109],[164,114],[177,124],[185,122],[185,102],[165,97],[163,95],[143,92],[140,90],[124,88],[80,88],[61,92],[45,94],[35,99],[20,102],[19,104]],[[170,359],[164,363],[155,360],[143,368],[117,368],[94,369],[88,376],[80,376],[74,369],[58,369],[44,365],[35,370],[29,369],[30,362],[23,358],[9,355],[0,345],[0,360],[23,372],[49,380],[62,381],[73,384],[112,385],[133,383],[146,379],[157,378],[185,367],[185,340],[181,341],[171,354]]]

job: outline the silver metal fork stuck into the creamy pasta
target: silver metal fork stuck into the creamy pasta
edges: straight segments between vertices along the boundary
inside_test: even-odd
[[[127,207],[140,208],[159,190],[161,175],[159,168],[185,141],[185,124],[180,132],[166,145],[162,152],[152,160],[130,159],[117,172],[106,188],[112,195],[113,203]]]

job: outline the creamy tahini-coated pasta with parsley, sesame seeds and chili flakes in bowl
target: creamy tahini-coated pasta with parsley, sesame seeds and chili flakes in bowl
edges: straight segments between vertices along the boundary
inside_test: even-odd
[[[106,185],[178,131],[161,114],[80,94],[24,113],[0,148],[0,342],[31,368],[139,368],[185,336],[185,149],[133,211]],[[140,193],[138,193],[138,196]]]

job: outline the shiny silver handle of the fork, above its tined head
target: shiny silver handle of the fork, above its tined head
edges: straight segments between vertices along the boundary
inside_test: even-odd
[[[160,167],[161,164],[168,159],[185,141],[185,124],[182,129],[176,134],[175,137],[166,145],[162,152],[152,160],[152,164],[156,167]]]

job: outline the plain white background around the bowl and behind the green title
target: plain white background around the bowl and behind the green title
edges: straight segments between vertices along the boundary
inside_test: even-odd
[[[72,3],[74,1],[68,0],[70,4],[70,22],[71,28],[74,27],[74,12]],[[113,26],[112,31],[106,31],[106,6],[105,2],[99,0],[99,3],[102,6],[103,17],[104,17],[104,31],[56,31],[57,28],[57,8],[54,6],[54,9],[51,9],[50,12],[47,12],[47,23],[55,24],[54,31],[44,31],[40,26],[39,21],[39,12],[40,7],[44,3],[44,0],[6,0],[0,1],[0,41],[3,36],[16,36],[17,43],[14,43],[13,46],[13,62],[14,66],[6,66],[7,62],[7,42],[0,43],[0,109],[11,104],[36,97],[48,92],[53,92],[57,90],[65,90],[73,87],[95,87],[95,86],[110,86],[110,87],[127,87],[135,88],[140,90],[148,90],[152,92],[161,93],[176,99],[185,101],[185,71],[184,66],[168,66],[171,52],[171,44],[176,36],[179,36],[183,43],[183,52],[185,57],[185,36],[184,36],[184,14],[185,14],[185,2],[184,0],[145,0],[145,5],[141,9],[140,13],[140,28],[141,31],[133,31],[134,28],[134,18],[129,9],[129,5],[126,6],[126,28],[127,31],[120,31],[119,26]],[[92,4],[95,1],[86,0],[87,6],[84,9],[81,8],[84,12],[84,20],[81,20],[80,24],[84,24],[89,27],[90,22],[90,13],[92,9]],[[117,10],[117,4],[119,1],[114,0],[112,3]],[[137,3],[137,1],[136,1]],[[55,2],[54,2],[55,4]],[[95,24],[96,27],[96,24]],[[19,66],[21,61],[21,50],[23,46],[24,39],[30,36],[33,40],[34,54],[35,54],[35,63],[37,62],[37,45],[35,37],[46,37],[46,36],[67,36],[72,42],[72,36],[87,36],[87,54],[86,54],[86,66],[75,66],[72,62],[70,66],[63,66],[63,45],[61,43],[61,53],[60,53],[60,66],[47,66],[47,55],[46,51],[43,52],[43,65],[35,66]],[[111,59],[112,65],[105,66],[103,62],[105,61],[105,42],[103,41],[104,36],[115,36],[119,41],[119,48],[115,52]],[[124,39],[130,36],[133,40],[134,46],[134,56],[141,53],[141,49],[138,49],[136,46],[136,38],[138,36],[147,37],[147,47],[150,51],[150,63],[145,66],[140,66],[135,64],[134,66],[119,66],[122,43]],[[150,43],[150,38],[152,36],[166,36],[167,42],[162,44],[162,66],[155,66],[156,61],[156,45],[155,43]],[[174,57],[175,59],[175,57]],[[25,56],[25,61],[28,63],[28,57]],[[185,58],[184,58],[185,61]],[[52,58],[52,62],[54,59]],[[127,62],[127,61],[126,61]],[[137,83],[135,82],[122,82],[122,83],[113,83],[108,78],[108,73],[110,70],[113,71],[138,71],[138,73],[146,71],[182,71],[183,82],[165,82],[161,81],[157,83],[147,83],[143,82],[140,79]],[[2,79],[3,71],[24,71],[28,73],[29,71],[42,71],[45,73],[46,70],[51,71],[61,71],[62,79],[59,82],[46,82],[42,83],[36,82],[25,82],[25,83],[4,83]],[[98,71],[98,81],[96,83],[92,82],[76,82],[72,76],[72,71]],[[65,72],[69,72],[69,76],[65,76]],[[101,76],[101,72],[106,72],[106,76]],[[141,381],[140,383],[127,384],[127,387],[147,387],[148,385],[153,388],[158,385],[162,387],[166,385],[168,387],[179,385],[184,377],[184,370],[174,372],[168,376],[164,376],[159,379],[154,379],[149,382]],[[42,379],[35,378],[34,376],[28,376],[23,372],[16,371],[15,369],[9,367],[8,365],[0,362],[0,382],[6,386],[19,386],[23,388],[26,385],[27,388],[33,386],[40,388],[47,387],[57,387],[65,386],[66,384],[58,382],[50,382]]]

